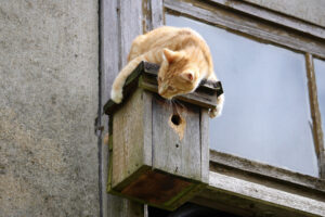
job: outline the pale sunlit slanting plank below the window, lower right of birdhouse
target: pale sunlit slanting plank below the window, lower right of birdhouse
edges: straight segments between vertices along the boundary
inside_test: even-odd
[[[325,216],[325,202],[262,183],[210,171],[209,189],[277,206],[306,216]]]

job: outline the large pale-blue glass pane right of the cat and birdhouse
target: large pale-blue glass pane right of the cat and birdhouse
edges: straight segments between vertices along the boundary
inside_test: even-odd
[[[223,115],[210,120],[210,149],[317,176],[304,56],[186,17],[208,42],[223,84]]]

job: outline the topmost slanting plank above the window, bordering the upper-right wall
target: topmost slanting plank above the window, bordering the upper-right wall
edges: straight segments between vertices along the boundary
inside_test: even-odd
[[[234,9],[238,12],[243,12],[277,25],[282,25],[285,27],[289,27],[295,30],[299,30],[303,34],[317,37],[321,39],[325,39],[325,29],[321,26],[316,26],[314,24],[310,24],[303,22],[301,20],[277,13],[268,9],[263,9],[261,7],[257,7],[255,4],[238,1],[238,0],[210,0],[211,2],[218,3],[220,5]]]

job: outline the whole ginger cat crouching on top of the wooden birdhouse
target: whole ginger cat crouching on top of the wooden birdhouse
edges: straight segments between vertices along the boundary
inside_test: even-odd
[[[203,37],[191,28],[162,26],[133,40],[128,64],[113,84],[114,102],[121,102],[125,81],[141,61],[160,65],[158,93],[165,99],[195,91],[203,79],[218,81]],[[221,114],[223,101],[222,94],[217,100],[217,108],[209,112],[210,117]]]

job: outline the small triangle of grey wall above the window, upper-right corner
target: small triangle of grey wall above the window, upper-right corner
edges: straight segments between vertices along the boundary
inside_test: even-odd
[[[245,0],[325,27],[324,0]]]

